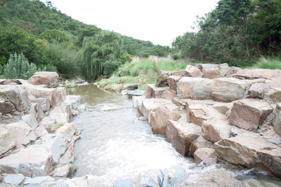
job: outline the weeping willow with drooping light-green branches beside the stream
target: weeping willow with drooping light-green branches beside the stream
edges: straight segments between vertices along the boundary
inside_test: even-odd
[[[114,32],[100,32],[95,36],[84,37],[81,60],[84,77],[93,81],[103,75],[105,62],[118,60],[122,51],[122,38]]]

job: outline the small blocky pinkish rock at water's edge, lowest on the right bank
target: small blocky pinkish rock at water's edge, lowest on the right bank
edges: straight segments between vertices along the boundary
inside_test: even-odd
[[[203,162],[204,165],[214,165],[218,161],[215,155],[214,148],[198,148],[194,153],[195,163],[199,165]]]

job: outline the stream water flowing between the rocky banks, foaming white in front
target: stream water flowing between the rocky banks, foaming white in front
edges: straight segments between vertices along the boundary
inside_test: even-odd
[[[148,169],[174,165],[185,167],[187,172],[216,169],[216,166],[196,167],[192,159],[183,158],[163,136],[153,134],[147,121],[138,120],[141,115],[126,96],[100,90],[96,85],[80,85],[67,92],[81,95],[84,104],[89,106],[73,121],[83,128],[81,140],[75,144],[75,176],[93,174],[114,181]],[[247,173],[252,174],[249,171],[236,174],[243,178]]]

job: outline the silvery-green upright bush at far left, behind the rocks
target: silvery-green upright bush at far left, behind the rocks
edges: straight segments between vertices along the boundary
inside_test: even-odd
[[[28,79],[37,71],[33,63],[29,63],[25,55],[10,55],[8,63],[4,67],[5,78],[22,78]]]

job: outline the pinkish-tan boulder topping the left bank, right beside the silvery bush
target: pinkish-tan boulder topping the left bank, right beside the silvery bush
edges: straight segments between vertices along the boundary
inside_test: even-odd
[[[47,88],[56,88],[58,86],[58,74],[56,72],[39,71],[28,79],[28,83],[33,85],[44,84]]]

